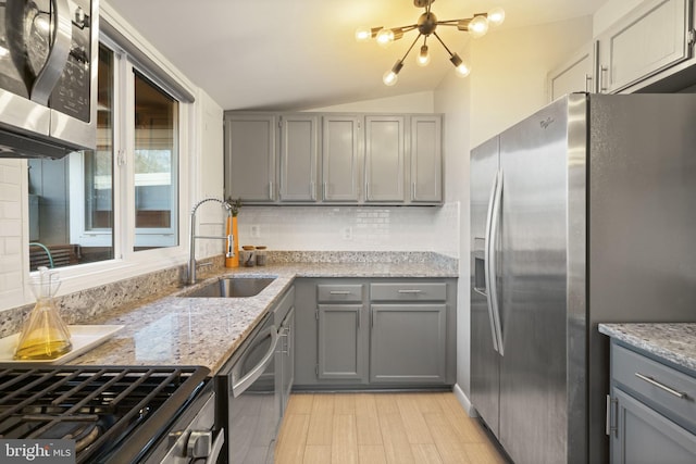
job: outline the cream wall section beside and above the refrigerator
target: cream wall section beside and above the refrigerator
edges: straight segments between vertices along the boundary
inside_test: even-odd
[[[547,72],[591,39],[589,16],[493,32],[462,52],[472,63],[470,77],[448,75],[435,91],[435,111],[446,121],[447,198],[460,204],[457,386],[465,406],[471,391],[469,151],[546,104]]]

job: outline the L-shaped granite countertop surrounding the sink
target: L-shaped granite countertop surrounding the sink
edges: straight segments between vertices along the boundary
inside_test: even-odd
[[[202,365],[215,374],[296,277],[457,277],[428,263],[291,263],[224,269],[224,275],[270,276],[275,280],[250,298],[182,298],[194,287],[133,303],[96,316],[88,324],[124,325],[103,344],[75,359],[83,365]]]

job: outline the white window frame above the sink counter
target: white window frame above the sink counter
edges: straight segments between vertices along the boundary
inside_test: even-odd
[[[102,11],[102,15],[103,15]],[[105,12],[109,13],[108,11]],[[100,21],[103,21],[100,17]],[[183,264],[188,259],[188,223],[187,210],[191,191],[192,177],[190,165],[192,164],[191,155],[186,153],[197,153],[195,141],[197,140],[195,131],[198,129],[192,123],[197,114],[197,105],[199,102],[185,101],[185,99],[170,91],[171,86],[162,83],[157,77],[158,72],[161,75],[163,70],[167,76],[182,86],[190,95],[196,95],[192,84],[175,70],[169,62],[158,52],[152,51],[153,48],[145,42],[139,35],[133,29],[124,27],[119,21],[111,18],[112,25],[117,25],[123,36],[133,40],[139,46],[139,50],[150,57],[152,63],[160,64],[160,68],[151,72],[137,62],[129,60],[128,53],[119,42],[103,30],[100,32],[99,41],[114,52],[114,128],[120,126],[122,129],[114,129],[113,140],[113,259],[94,263],[76,264],[66,267],[59,267],[62,286],[60,293],[69,293],[74,291],[94,288],[96,286],[113,283],[126,277],[134,277],[154,271],[172,267]],[[127,29],[127,30],[126,30]],[[134,97],[135,92],[135,74],[137,70],[139,74],[147,77],[151,83],[160,87],[162,91],[170,95],[178,101],[178,128],[176,129],[177,147],[178,147],[178,164],[176,167],[176,178],[178,181],[177,202],[174,216],[177,220],[177,237],[178,244],[166,248],[156,248],[150,250],[135,251],[135,173],[133,168],[134,150],[135,150],[135,112],[133,102],[124,104],[123,99]],[[128,97],[130,96],[130,97]],[[130,99],[133,101],[133,99]],[[73,164],[73,163],[71,163]],[[79,163],[80,177],[84,183],[84,163]],[[71,166],[72,171],[72,166]],[[27,186],[28,189],[28,186]],[[79,189],[83,190],[84,186]],[[26,192],[28,199],[28,190]],[[72,195],[72,192],[71,192]],[[28,218],[28,200],[24,201],[26,205],[25,217]],[[84,231],[85,217],[84,208],[82,210],[82,229]],[[72,213],[71,213],[72,216]],[[73,220],[71,217],[71,227]],[[28,247],[28,225],[27,242]],[[72,233],[71,233],[72,234]],[[91,234],[91,233],[89,233]],[[107,233],[109,234],[109,233]],[[28,259],[25,262],[25,275],[32,276],[37,272],[30,272],[28,267]],[[27,279],[28,281],[28,279]],[[25,289],[25,300],[32,300],[30,292]]]

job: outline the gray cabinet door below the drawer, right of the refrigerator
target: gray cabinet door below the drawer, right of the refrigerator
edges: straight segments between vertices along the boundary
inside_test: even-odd
[[[612,397],[618,402],[612,464],[696,462],[695,435],[618,388],[612,388]]]

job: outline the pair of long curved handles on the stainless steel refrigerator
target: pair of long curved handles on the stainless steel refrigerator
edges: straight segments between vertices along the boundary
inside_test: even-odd
[[[488,266],[488,310],[492,318],[492,329],[494,330],[494,339],[496,340],[497,351],[500,355],[505,355],[502,346],[502,329],[500,326],[500,305],[498,304],[498,280],[496,268],[496,237],[498,236],[498,226],[500,222],[500,205],[502,203],[502,171],[496,173],[494,183],[495,189],[493,195],[493,204],[488,210],[489,223],[487,235],[487,255],[486,264]]]

